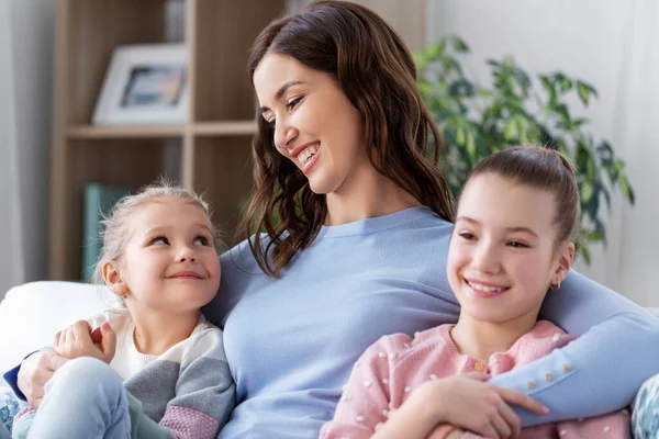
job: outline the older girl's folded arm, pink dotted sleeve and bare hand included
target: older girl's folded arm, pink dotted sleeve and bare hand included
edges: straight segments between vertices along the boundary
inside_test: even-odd
[[[334,419],[321,429],[322,439],[426,439],[445,423],[487,437],[509,437],[518,434],[521,425],[509,404],[543,412],[541,405],[525,394],[483,383],[485,375],[470,374],[428,379],[392,414],[392,394],[405,392],[406,382],[417,373],[411,363],[417,352],[403,354],[396,348],[411,341],[411,337],[396,334],[366,350],[353,369]]]

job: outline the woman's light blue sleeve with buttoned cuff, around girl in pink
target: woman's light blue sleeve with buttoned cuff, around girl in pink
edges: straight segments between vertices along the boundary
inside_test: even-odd
[[[659,319],[574,271],[548,295],[540,314],[580,337],[490,380],[549,407],[547,416],[516,408],[525,427],[621,409],[659,370],[659,356],[648,349],[659,345]],[[528,389],[528,382],[536,385]]]

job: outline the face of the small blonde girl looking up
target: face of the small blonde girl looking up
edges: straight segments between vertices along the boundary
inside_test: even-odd
[[[220,286],[220,259],[199,206],[176,199],[148,202],[130,219],[116,271],[132,313],[185,313],[208,304]]]

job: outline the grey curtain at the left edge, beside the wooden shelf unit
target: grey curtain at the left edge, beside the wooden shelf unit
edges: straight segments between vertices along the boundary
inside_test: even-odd
[[[0,0],[0,299],[47,275],[53,20],[52,0]]]

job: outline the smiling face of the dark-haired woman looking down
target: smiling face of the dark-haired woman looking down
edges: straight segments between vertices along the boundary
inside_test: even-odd
[[[333,77],[268,54],[254,72],[254,86],[277,150],[304,172],[312,191],[345,192],[359,185],[360,173],[372,171],[361,114]]]

